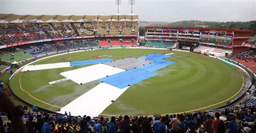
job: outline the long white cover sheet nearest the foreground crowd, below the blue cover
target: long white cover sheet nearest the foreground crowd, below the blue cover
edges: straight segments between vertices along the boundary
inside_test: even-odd
[[[98,116],[112,104],[112,100],[115,101],[127,88],[129,88],[129,86],[120,89],[106,83],[100,83],[61,108],[58,113],[64,114],[65,112],[70,112],[73,116]]]

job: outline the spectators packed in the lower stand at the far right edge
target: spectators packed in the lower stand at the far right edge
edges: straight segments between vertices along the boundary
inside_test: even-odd
[[[256,52],[255,51],[244,51],[244,52],[239,52],[239,53],[234,53],[228,56],[231,60],[234,60],[235,58],[238,58],[240,60],[244,60],[246,62],[254,60],[256,57]]]

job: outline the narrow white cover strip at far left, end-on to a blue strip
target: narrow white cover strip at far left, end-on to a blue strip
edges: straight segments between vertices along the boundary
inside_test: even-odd
[[[70,62],[63,63],[51,63],[51,64],[41,64],[41,65],[28,65],[22,69],[22,71],[36,71],[45,69],[55,69],[55,68],[67,68],[71,67]]]

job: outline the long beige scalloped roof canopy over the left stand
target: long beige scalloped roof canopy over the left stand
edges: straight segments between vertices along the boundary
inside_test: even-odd
[[[123,15],[123,14],[115,14],[115,15],[110,15],[110,16],[91,16],[91,15],[69,15],[69,16],[63,16],[63,15],[18,15],[18,14],[0,14],[0,20],[4,21],[15,21],[15,20],[25,20],[25,21],[32,21],[32,20],[42,20],[42,21],[48,21],[48,20],[58,20],[58,21],[63,21],[63,20],[73,20],[73,21],[78,21],[78,20],[109,20],[109,19],[114,19],[114,20],[120,20],[120,19],[129,19],[129,20],[135,20],[138,19],[139,16],[136,14],[129,14],[129,15]]]

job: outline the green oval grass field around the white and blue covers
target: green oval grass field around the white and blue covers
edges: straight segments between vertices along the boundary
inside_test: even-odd
[[[214,58],[178,51],[95,50],[51,57],[35,64],[92,60],[93,56],[99,55],[111,55],[112,60],[119,60],[153,53],[174,53],[173,57],[167,58],[166,61],[175,63],[158,70],[157,76],[132,85],[102,114],[152,115],[187,112],[194,109],[209,110],[224,105],[225,102],[221,101],[232,97],[242,86],[243,79],[240,70]],[[26,102],[56,112],[58,107],[64,107],[99,84],[93,81],[78,85],[71,80],[49,84],[54,80],[65,78],[59,75],[59,72],[82,67],[86,66],[19,72],[11,79],[10,87],[19,98]],[[97,96],[95,98],[98,99]],[[219,102],[221,103],[217,104]],[[86,105],[81,103],[81,106]]]

